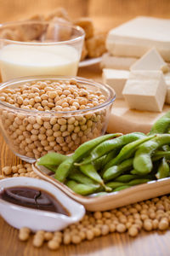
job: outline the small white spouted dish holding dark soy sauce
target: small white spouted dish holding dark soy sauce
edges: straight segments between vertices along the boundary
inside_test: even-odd
[[[0,190],[12,187],[29,187],[38,188],[47,191],[54,195],[57,201],[65,207],[70,216],[64,214],[35,210],[27,207],[20,207],[8,201],[0,199],[0,214],[16,229],[28,227],[32,231],[47,230],[55,231],[62,230],[67,225],[73,224],[82,219],[85,214],[85,208],[77,201],[73,201],[65,195],[56,186],[46,181],[32,177],[9,177],[0,181]]]

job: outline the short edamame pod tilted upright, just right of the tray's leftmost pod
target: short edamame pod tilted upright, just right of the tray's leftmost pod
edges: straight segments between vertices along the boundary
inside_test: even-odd
[[[59,180],[59,182],[64,183],[65,178],[71,172],[71,168],[73,166],[74,160],[72,156],[68,157],[64,162],[62,162],[57,168],[54,177]]]

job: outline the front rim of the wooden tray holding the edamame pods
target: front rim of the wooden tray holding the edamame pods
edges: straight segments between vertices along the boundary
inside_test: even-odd
[[[78,195],[69,189],[65,184],[59,183],[54,179],[54,172],[49,171],[43,166],[32,164],[32,169],[39,177],[53,183],[60,190],[65,192],[73,200],[81,203],[88,211],[107,211],[117,207],[123,207],[137,201],[144,201],[160,195],[170,193],[170,177],[162,178],[157,181],[151,181],[132,188],[123,189],[108,195],[100,195],[96,197]]]

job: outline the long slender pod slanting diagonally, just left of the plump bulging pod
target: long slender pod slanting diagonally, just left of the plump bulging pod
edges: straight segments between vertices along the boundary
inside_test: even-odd
[[[106,166],[105,166],[105,170],[108,169],[111,166],[116,166],[117,164],[119,164],[120,162],[122,162],[122,160],[126,160],[129,157],[132,157],[133,153],[135,152],[136,148],[139,147],[140,144],[149,141],[150,139],[152,139],[153,137],[155,137],[155,135],[149,136],[149,137],[143,137],[139,140],[134,141],[133,143],[128,143],[127,145],[125,145],[121,151],[119,152],[119,154],[117,154],[116,158],[114,158],[113,160],[111,160]]]

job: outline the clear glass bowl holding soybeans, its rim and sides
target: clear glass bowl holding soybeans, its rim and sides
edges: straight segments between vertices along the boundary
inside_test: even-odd
[[[105,134],[112,104],[116,98],[114,90],[106,84],[89,79],[70,76],[37,76],[7,81],[1,84],[2,93],[11,93],[14,88],[34,84],[37,81],[59,82],[76,79],[77,84],[92,92],[100,91],[105,101],[94,108],[75,111],[38,111],[16,108],[0,97],[0,129],[8,147],[27,162],[34,162],[50,151],[71,154],[86,141]]]

